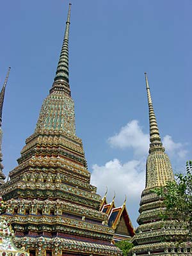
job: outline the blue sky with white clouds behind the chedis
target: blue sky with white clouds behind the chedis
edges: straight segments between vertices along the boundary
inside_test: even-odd
[[[52,86],[67,8],[64,0],[1,3],[1,84],[12,67],[3,109],[5,174],[17,165]],[[117,206],[126,194],[134,225],[148,150],[145,71],[175,172],[191,159],[191,11],[188,0],[72,1],[77,136],[98,192],[103,195],[108,185],[108,200],[116,191]]]

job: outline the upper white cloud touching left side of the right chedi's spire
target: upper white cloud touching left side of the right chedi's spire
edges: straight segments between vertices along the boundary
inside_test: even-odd
[[[149,136],[142,131],[138,120],[132,120],[122,127],[108,142],[111,147],[132,148],[136,156],[145,156],[148,153]]]

